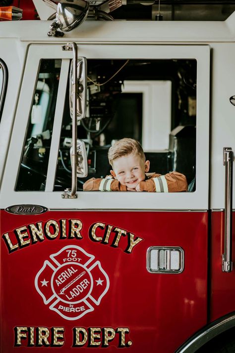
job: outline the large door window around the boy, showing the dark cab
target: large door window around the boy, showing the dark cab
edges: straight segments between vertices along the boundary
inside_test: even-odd
[[[150,172],[177,171],[195,190],[196,60],[88,59],[87,115],[77,136],[87,148],[88,176],[110,174],[107,154],[115,140],[138,140],[150,160]],[[64,109],[55,190],[71,187],[71,118]],[[164,135],[164,136],[163,136]],[[162,148],[159,148],[162,146]]]

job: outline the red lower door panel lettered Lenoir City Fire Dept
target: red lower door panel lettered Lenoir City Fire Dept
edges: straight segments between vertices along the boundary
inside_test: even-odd
[[[207,218],[206,212],[58,211],[24,216],[2,210],[0,352],[31,352],[38,337],[47,333],[49,337],[42,343],[44,346],[49,343],[50,351],[58,352],[59,348],[60,352],[73,352],[75,328],[86,329],[80,341],[86,339],[88,332],[87,342],[90,340],[93,352],[107,342],[108,352],[116,352],[121,344],[133,353],[174,352],[207,320]],[[80,223],[69,222],[71,219]],[[39,222],[42,222],[44,235],[40,241],[29,232],[29,224],[40,229]],[[98,222],[101,224],[97,228],[93,226]],[[74,237],[69,239],[71,234]],[[138,237],[143,240],[131,249]],[[181,247],[185,255],[183,272],[149,273],[146,254],[151,246]],[[72,251],[75,252],[72,254]],[[59,254],[53,258],[56,253]],[[81,260],[64,261],[65,254]],[[99,266],[96,266],[97,261]],[[80,287],[71,294],[77,274],[83,284],[80,281]],[[62,300],[64,293],[65,301]],[[71,295],[75,295],[75,299],[71,299]],[[79,303],[75,303],[77,298],[81,298]],[[50,309],[57,301],[59,305],[64,303],[59,311],[66,318]],[[94,310],[71,320],[74,308],[84,312],[86,305]],[[82,306],[85,309],[81,309]],[[20,327],[25,331],[20,331]],[[49,330],[41,332],[41,327]],[[19,345],[14,347],[17,328]],[[56,332],[55,328],[60,331]],[[111,328],[109,332],[107,328]],[[129,332],[124,332],[123,328]],[[60,336],[56,337],[56,333]],[[92,333],[97,337],[92,339]],[[51,347],[53,340],[56,346]],[[95,343],[97,348],[94,348]],[[84,349],[89,350],[86,347],[87,343]]]

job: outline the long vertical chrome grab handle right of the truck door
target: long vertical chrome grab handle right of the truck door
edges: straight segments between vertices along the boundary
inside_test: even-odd
[[[231,272],[232,262],[232,217],[233,217],[233,162],[234,153],[231,147],[224,147],[225,166],[225,249],[223,254],[223,271]]]

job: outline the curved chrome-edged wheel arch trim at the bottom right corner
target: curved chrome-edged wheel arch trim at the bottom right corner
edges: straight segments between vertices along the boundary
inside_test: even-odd
[[[194,353],[208,341],[232,327],[235,327],[235,312],[204,327],[178,348],[175,353]]]

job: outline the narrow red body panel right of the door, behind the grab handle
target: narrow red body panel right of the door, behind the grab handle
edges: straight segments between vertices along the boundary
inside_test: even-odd
[[[235,224],[235,212],[233,213]],[[235,264],[235,228],[233,227],[232,260]],[[211,215],[211,321],[235,311],[235,271],[222,272],[224,252],[224,212]]]

